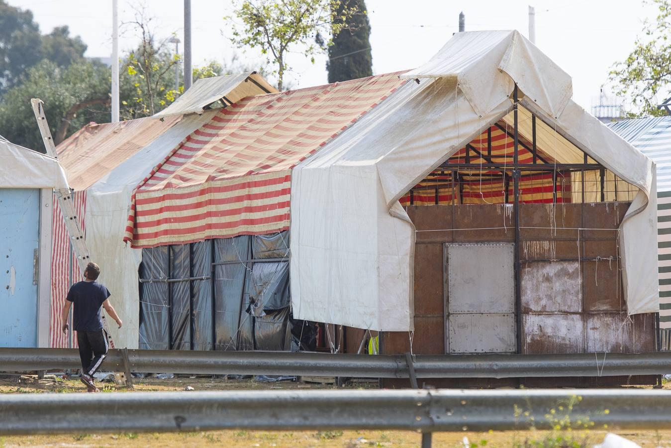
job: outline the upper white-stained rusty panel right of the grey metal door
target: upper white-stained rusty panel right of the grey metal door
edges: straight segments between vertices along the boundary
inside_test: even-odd
[[[522,312],[580,312],[580,263],[534,261],[521,273]]]

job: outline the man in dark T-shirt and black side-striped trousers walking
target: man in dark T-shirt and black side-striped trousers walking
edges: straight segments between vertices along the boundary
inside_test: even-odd
[[[121,319],[117,316],[113,306],[109,303],[109,291],[96,280],[100,275],[100,267],[89,263],[84,270],[84,281],[74,283],[70,287],[63,308],[63,332],[68,332],[68,314],[74,303],[72,314],[72,329],[77,332],[79,357],[82,361],[81,382],[86,384],[89,392],[99,392],[93,384],[93,374],[107,356],[107,334],[103,330],[103,321],[100,309],[105,308],[107,314],[113,318],[119,328]]]

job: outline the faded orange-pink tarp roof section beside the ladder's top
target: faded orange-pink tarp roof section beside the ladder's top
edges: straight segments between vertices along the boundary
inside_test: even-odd
[[[164,120],[146,117],[117,123],[87,124],[56,148],[70,186],[77,191],[89,188],[180,119],[181,116],[170,116]],[[150,169],[146,167],[146,172]]]

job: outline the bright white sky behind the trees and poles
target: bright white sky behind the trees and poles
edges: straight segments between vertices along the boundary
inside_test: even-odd
[[[134,19],[134,5],[143,4],[153,17],[156,36],[173,33],[183,40],[183,0],[118,0],[119,20]],[[86,56],[111,54],[111,0],[7,0],[30,9],[43,33],[67,25],[88,45]],[[624,60],[643,21],[653,20],[654,6],[636,0],[366,0],[370,19],[373,72],[413,69],[429,60],[458,31],[458,16],[466,15],[466,31],[516,29],[528,36],[528,6],[535,7],[536,45],[572,76],[574,99],[590,110],[599,99],[613,64]],[[230,0],[192,0],[193,64],[225,62],[234,56],[250,66],[262,64],[260,53],[231,45],[223,17]],[[138,42],[130,26],[122,26],[119,49]],[[180,49],[181,52],[181,49]],[[315,64],[295,52],[287,76],[293,88],[326,83],[326,56]]]

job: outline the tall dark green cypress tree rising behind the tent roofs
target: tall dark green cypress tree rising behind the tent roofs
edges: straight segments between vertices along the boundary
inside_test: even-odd
[[[370,54],[370,23],[364,0],[344,0],[342,8],[356,11],[348,26],[333,33],[333,45],[329,46],[329,60],[326,69],[329,83],[347,81],[372,76],[372,55]],[[341,21],[341,13],[336,13],[336,21]]]

